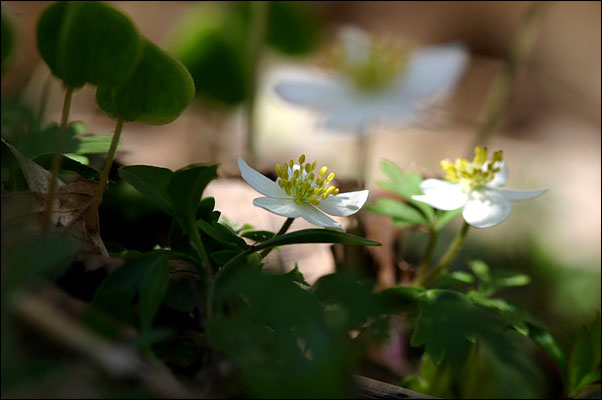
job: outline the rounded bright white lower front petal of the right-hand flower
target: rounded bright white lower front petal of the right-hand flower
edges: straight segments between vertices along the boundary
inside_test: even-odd
[[[512,204],[497,191],[476,193],[477,196],[466,203],[462,216],[476,228],[488,228],[505,221],[510,216]]]

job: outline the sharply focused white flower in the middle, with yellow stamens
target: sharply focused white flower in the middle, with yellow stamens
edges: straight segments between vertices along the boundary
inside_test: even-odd
[[[253,200],[253,204],[283,217],[301,217],[323,228],[345,231],[341,224],[324,213],[339,217],[355,214],[368,199],[368,190],[339,194],[339,189],[329,186],[334,174],[326,175],[328,167],[314,173],[315,168],[316,162],[305,163],[302,155],[298,164],[293,160],[276,164],[278,179],[274,182],[238,157],[242,178],[266,196]]]

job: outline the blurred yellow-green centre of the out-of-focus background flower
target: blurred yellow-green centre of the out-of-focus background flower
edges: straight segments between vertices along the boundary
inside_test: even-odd
[[[403,71],[407,52],[388,38],[347,29],[328,58],[326,64],[347,76],[356,89],[372,92],[386,87]]]

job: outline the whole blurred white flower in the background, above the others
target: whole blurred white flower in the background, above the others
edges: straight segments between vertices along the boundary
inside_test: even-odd
[[[459,44],[418,49],[404,57],[357,28],[342,32],[340,74],[282,81],[284,100],[325,117],[327,128],[361,134],[367,124],[412,119],[415,111],[455,87],[468,61]]]

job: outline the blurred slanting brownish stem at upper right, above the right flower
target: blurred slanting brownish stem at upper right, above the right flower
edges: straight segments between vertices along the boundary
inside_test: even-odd
[[[476,145],[485,145],[498,127],[508,108],[508,104],[519,72],[531,54],[545,12],[551,5],[548,1],[531,3],[516,29],[501,71],[495,77],[479,117],[479,128],[470,154]]]

